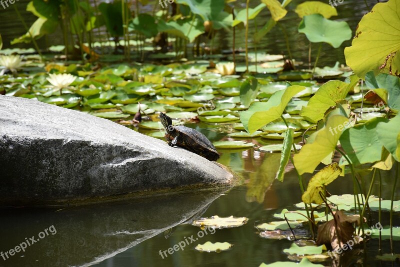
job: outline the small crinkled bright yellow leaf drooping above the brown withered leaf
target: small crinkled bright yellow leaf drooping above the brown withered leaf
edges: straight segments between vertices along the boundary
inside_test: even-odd
[[[331,183],[339,176],[341,168],[337,163],[332,163],[318,171],[308,182],[307,190],[301,196],[301,200],[307,204],[322,204],[320,194],[325,194],[324,186]]]

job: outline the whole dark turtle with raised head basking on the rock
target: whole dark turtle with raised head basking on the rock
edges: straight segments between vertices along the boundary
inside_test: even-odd
[[[172,119],[162,112],[159,114],[159,118],[165,130],[164,136],[168,145],[171,147],[179,146],[210,161],[219,158],[215,147],[205,135],[186,126],[172,126]]]

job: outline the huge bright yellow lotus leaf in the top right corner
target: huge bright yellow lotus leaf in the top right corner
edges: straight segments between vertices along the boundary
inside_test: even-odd
[[[376,4],[359,22],[351,46],[344,49],[346,64],[364,78],[374,74],[400,74],[400,5],[397,0]]]

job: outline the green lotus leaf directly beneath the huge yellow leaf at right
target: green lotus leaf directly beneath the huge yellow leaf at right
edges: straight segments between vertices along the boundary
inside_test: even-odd
[[[365,74],[365,84],[371,89],[380,88],[386,90],[389,108],[396,111],[400,110],[400,78],[386,73],[381,73],[374,77],[371,71]],[[385,97],[381,98],[385,99]]]

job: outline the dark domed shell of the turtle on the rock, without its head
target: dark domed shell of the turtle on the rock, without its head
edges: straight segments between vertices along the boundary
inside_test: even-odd
[[[176,144],[182,148],[190,150],[204,158],[215,161],[219,158],[218,152],[212,143],[199,131],[186,126],[175,126],[175,131],[179,133]]]

